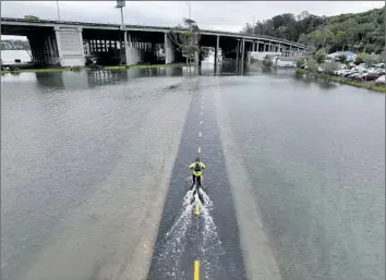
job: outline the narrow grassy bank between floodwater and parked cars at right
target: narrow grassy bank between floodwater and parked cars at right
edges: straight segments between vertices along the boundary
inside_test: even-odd
[[[301,74],[307,74],[307,75],[313,75],[317,76],[321,78],[326,78],[336,83],[345,84],[345,85],[350,85],[350,86],[355,86],[355,87],[361,87],[361,88],[366,88],[370,90],[386,94],[386,86],[385,84],[376,84],[374,82],[364,82],[364,81],[358,81],[358,80],[351,80],[351,78],[346,78],[341,76],[335,76],[330,74],[325,74],[325,73],[315,73],[311,72],[304,69],[297,69],[297,73]]]

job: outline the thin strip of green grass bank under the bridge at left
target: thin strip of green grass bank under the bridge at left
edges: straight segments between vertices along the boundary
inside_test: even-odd
[[[184,63],[171,63],[171,64],[152,64],[152,65],[113,65],[113,66],[101,66],[100,70],[125,70],[125,69],[153,69],[153,68],[170,68],[170,66],[181,66]],[[65,71],[89,71],[99,70],[92,69],[87,66],[74,66],[74,68],[47,68],[47,69],[19,69],[19,70],[1,70],[0,73],[53,73],[53,72],[65,72]]]

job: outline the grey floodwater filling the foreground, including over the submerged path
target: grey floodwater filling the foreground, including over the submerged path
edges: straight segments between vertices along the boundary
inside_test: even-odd
[[[384,95],[218,74],[2,75],[2,279],[384,280]]]

